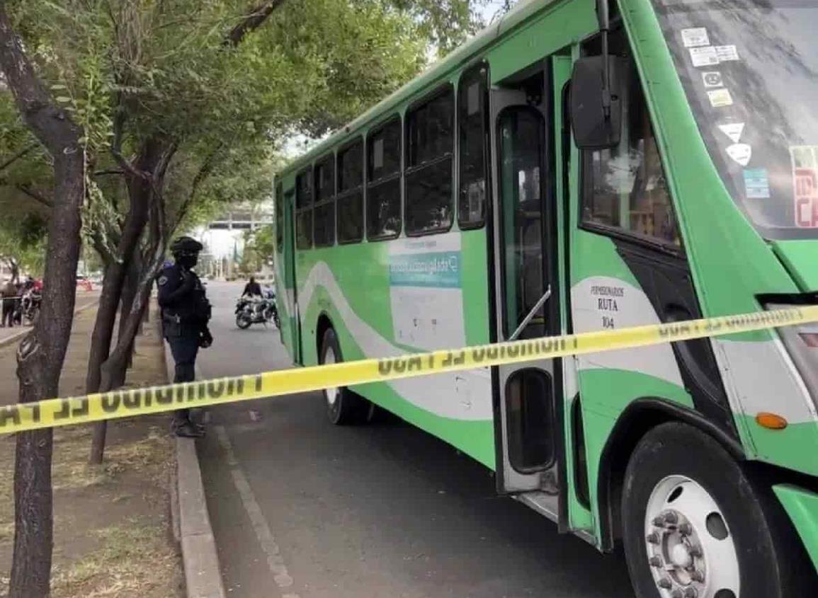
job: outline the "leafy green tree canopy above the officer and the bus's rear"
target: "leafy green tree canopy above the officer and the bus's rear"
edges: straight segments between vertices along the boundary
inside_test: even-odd
[[[486,0],[286,0],[225,44],[253,0],[7,0],[52,96],[83,127],[87,239],[112,238],[128,208],[119,155],[175,141],[163,197],[171,225],[197,224],[270,193],[294,133],[360,114],[478,25]],[[0,91],[0,185],[44,197],[51,164]],[[30,196],[24,198],[31,204]]]

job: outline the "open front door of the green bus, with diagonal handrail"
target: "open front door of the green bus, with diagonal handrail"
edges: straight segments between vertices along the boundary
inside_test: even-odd
[[[559,333],[553,185],[548,156],[549,69],[492,90],[494,294],[498,341]],[[550,84],[547,85],[550,87]],[[497,489],[556,519],[553,359],[506,365],[494,374]],[[497,417],[499,416],[499,417]]]

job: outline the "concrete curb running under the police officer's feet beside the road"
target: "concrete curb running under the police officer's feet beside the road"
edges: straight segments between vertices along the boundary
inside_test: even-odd
[[[173,380],[173,359],[167,341],[164,342],[164,363],[168,380]],[[210,514],[205,500],[205,486],[196,454],[196,440],[176,439],[175,488],[172,499],[178,502],[173,509],[178,521],[179,545],[182,547],[182,564],[185,569],[187,598],[225,598],[222,569],[218,565],[216,538],[210,525]],[[178,526],[178,527],[177,527]]]

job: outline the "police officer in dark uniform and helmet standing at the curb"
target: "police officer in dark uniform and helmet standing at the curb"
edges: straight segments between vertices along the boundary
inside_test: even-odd
[[[180,237],[171,245],[174,263],[160,272],[159,305],[162,329],[170,345],[176,373],[173,382],[192,382],[196,377],[196,354],[199,348],[213,344],[208,329],[210,303],[205,288],[193,270],[199,260],[202,244],[190,237]],[[184,438],[198,438],[205,431],[191,422],[190,409],[173,413],[173,431]]]

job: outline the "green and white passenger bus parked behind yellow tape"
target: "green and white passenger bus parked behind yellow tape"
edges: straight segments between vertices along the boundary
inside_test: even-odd
[[[276,177],[296,364],[818,303],[818,2],[521,0]],[[818,326],[324,391],[639,598],[818,596]]]

